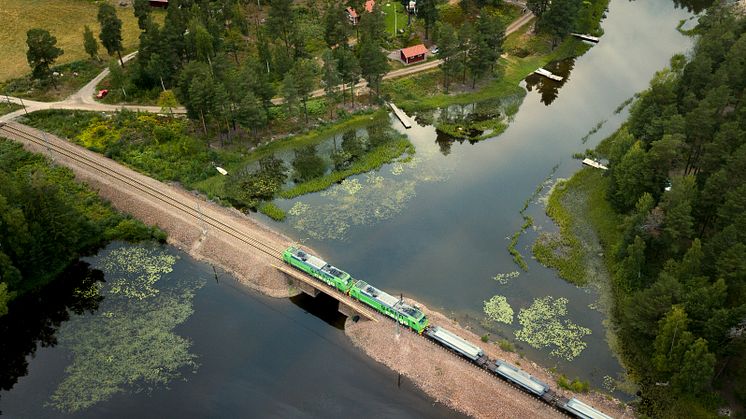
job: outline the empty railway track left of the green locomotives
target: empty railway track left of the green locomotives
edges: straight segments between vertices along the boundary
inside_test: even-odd
[[[215,230],[221,231],[235,239],[238,239],[239,241],[243,243],[246,243],[247,245],[272,257],[273,259],[277,259],[280,261],[282,260],[280,255],[284,249],[277,249],[271,245],[263,243],[261,240],[258,240],[244,232],[241,232],[237,230],[236,228],[232,227],[231,225],[226,224],[223,221],[209,214],[205,214],[204,212],[200,211],[197,208],[192,208],[189,205],[184,204],[183,202],[174,198],[170,194],[160,191],[158,190],[158,188],[155,188],[149,185],[147,182],[136,179],[133,176],[123,175],[119,173],[116,170],[116,168],[112,167],[113,165],[110,166],[108,164],[105,164],[104,162],[98,161],[97,159],[94,159],[94,158],[91,158],[85,155],[85,153],[80,153],[80,150],[75,149],[76,146],[73,146],[71,144],[66,144],[66,146],[63,147],[57,144],[56,142],[48,141],[44,139],[43,137],[36,135],[35,133],[28,132],[10,123],[0,126],[0,133],[2,132],[5,132],[8,135],[17,137],[23,141],[36,144],[42,148],[45,148],[61,156],[64,156],[72,161],[75,161],[87,167],[90,170],[93,170],[111,179],[115,179],[119,182],[122,182],[128,185],[129,187],[142,192],[145,195],[148,195],[160,202],[163,202],[166,205],[176,208],[180,212],[183,212],[189,216],[194,217],[198,222],[202,222],[205,225],[211,228],[214,228]],[[69,147],[67,147],[67,145],[69,145]]]

